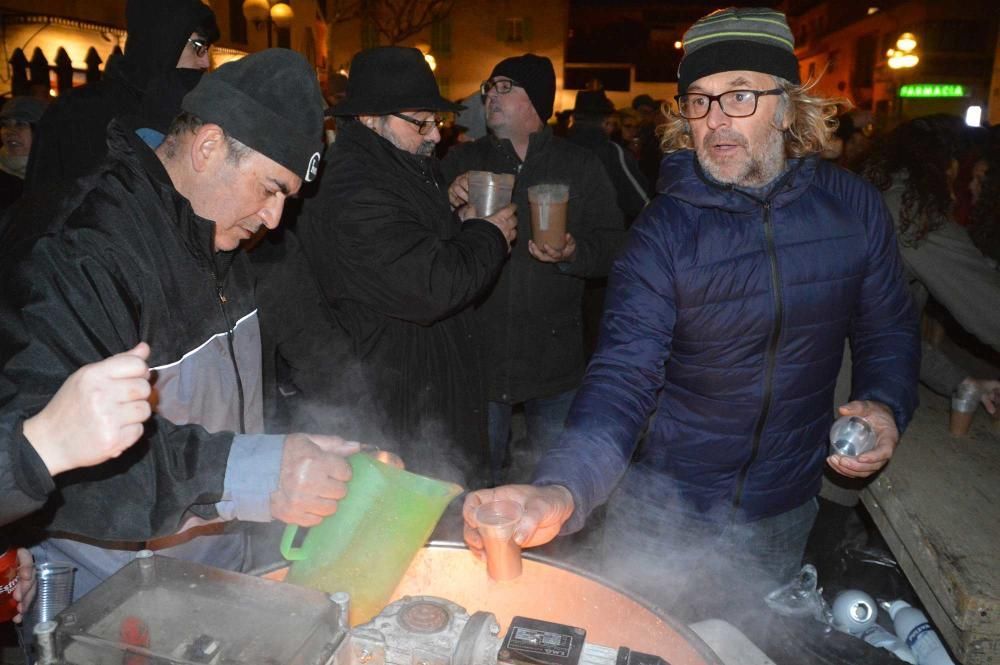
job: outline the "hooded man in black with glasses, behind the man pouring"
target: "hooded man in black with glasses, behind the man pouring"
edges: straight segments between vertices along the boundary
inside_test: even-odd
[[[219,38],[215,14],[201,0],[129,0],[125,21],[124,55],[109,60],[100,81],[72,90],[42,117],[25,178],[29,193],[47,192],[97,166],[108,151],[105,132],[112,118],[129,118],[133,129],[151,126],[142,120],[147,91],[193,88]],[[164,104],[181,97],[169,95]],[[146,104],[158,106],[163,104]]]

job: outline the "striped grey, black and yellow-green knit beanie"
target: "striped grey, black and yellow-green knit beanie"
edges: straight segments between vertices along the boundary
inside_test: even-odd
[[[784,14],[766,7],[719,9],[684,33],[679,94],[703,76],[740,70],[799,83],[795,40]]]

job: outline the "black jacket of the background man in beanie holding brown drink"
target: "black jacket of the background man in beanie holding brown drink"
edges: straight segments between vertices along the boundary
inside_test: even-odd
[[[510,141],[491,134],[452,149],[442,168],[449,182],[467,171],[517,175],[517,241],[477,310],[490,400],[517,404],[575,388],[584,370],[583,278],[606,275],[624,240],[622,212],[604,168],[589,150],[549,129],[531,136],[523,163]],[[528,187],[540,183],[570,185],[567,230],[577,246],[570,263],[542,263],[528,254]]]

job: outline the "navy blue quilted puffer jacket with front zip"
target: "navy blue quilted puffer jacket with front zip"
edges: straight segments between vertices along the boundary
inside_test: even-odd
[[[675,153],[612,269],[597,352],[534,482],[573,494],[566,532],[626,472],[625,488],[679,495],[706,519],[795,508],[819,490],[845,338],[852,399],[887,404],[902,431],[919,334],[878,192],[808,158],[756,199]]]

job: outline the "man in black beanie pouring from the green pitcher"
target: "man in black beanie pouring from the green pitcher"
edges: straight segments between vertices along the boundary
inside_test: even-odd
[[[0,261],[0,443],[36,481],[22,503],[41,508],[59,494],[22,524],[39,536],[36,560],[74,564],[77,597],[144,547],[252,565],[248,530],[212,523],[317,524],[345,495],[344,457],[358,449],[263,433],[260,329],[239,250],[316,177],[315,73],[301,55],[269,49],[207,74],[182,109],[155,152],[113,121],[100,170],[52,203],[45,235]],[[140,440],[53,480],[31,437],[75,423],[26,421],[77,368],[139,342],[150,348],[153,404]]]

